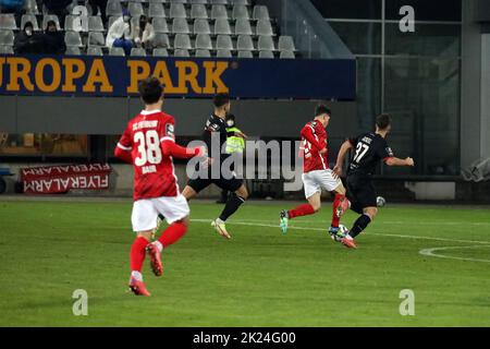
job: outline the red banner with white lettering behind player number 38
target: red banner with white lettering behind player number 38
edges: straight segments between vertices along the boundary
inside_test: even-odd
[[[66,193],[71,189],[109,188],[109,164],[65,165],[21,168],[24,193]]]

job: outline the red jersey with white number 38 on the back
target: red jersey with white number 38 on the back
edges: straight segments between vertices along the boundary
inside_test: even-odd
[[[132,155],[134,201],[179,195],[172,157],[162,152],[163,141],[175,142],[174,123],[160,110],[143,110],[127,123],[118,147]]]

